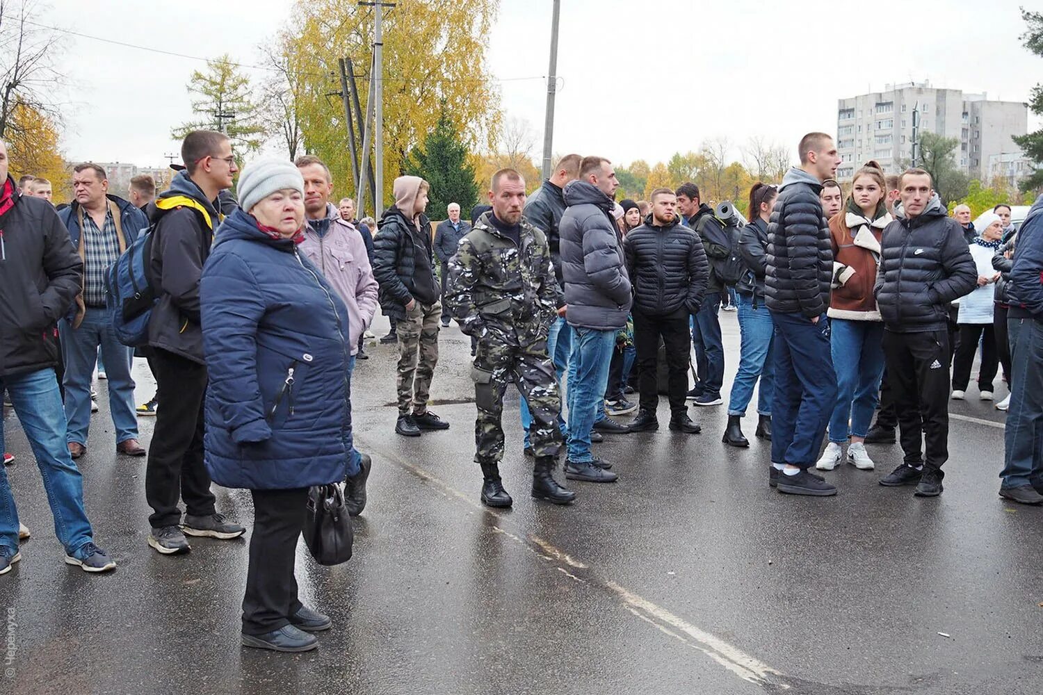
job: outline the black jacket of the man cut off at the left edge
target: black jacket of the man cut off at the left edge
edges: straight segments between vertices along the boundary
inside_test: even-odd
[[[79,294],[83,262],[51,204],[0,179],[0,376],[53,368],[57,320]]]

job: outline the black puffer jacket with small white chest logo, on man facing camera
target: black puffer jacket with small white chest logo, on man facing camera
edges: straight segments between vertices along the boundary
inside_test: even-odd
[[[960,223],[946,216],[938,194],[923,213],[894,222],[880,239],[880,268],[873,294],[888,330],[902,333],[944,329],[949,304],[977,287],[977,266]]]

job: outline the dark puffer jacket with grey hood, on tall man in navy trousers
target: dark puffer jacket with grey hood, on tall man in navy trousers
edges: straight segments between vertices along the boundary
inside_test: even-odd
[[[773,312],[812,319],[829,306],[833,246],[821,191],[819,179],[802,169],[793,168],[782,177],[765,256],[765,301]]]

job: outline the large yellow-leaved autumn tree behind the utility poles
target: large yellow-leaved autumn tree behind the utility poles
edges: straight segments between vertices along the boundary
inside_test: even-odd
[[[407,152],[436,127],[442,101],[468,149],[496,149],[500,96],[485,58],[498,5],[496,0],[398,0],[384,10],[385,202]],[[351,178],[344,156],[347,126],[340,101],[326,95],[340,89],[337,58],[350,57],[367,109],[373,11],[355,0],[296,0],[287,29],[302,76],[305,146],[323,157],[337,180]],[[361,151],[361,133],[356,136]]]

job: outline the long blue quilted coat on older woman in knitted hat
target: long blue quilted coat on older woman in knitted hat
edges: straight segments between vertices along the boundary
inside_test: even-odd
[[[236,210],[200,281],[205,462],[226,488],[344,479],[347,308],[292,241]]]

